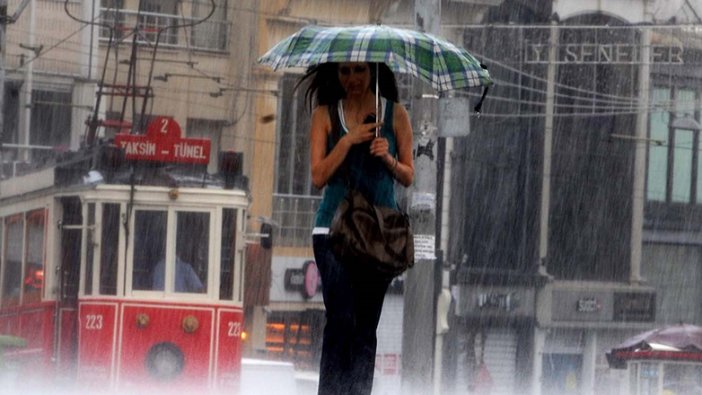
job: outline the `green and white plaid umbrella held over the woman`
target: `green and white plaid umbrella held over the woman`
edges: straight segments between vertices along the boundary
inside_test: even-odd
[[[473,55],[431,34],[383,25],[307,26],[276,44],[259,63],[277,70],[327,62],[383,62],[438,91],[492,84]]]

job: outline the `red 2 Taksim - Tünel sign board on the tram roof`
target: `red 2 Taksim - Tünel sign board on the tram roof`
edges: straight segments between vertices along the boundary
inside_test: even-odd
[[[118,133],[115,144],[124,149],[127,160],[208,164],[210,140],[182,138],[181,134],[173,118],[157,117],[147,126],[146,134]]]

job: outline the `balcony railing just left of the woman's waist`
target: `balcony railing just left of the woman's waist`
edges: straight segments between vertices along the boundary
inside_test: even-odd
[[[309,247],[321,196],[273,195],[273,242],[280,247]]]

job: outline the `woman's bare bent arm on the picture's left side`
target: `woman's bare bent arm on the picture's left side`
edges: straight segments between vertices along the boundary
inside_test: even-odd
[[[375,127],[380,125],[382,123],[368,123],[356,126],[344,134],[331,152],[327,154],[327,139],[331,132],[329,107],[319,106],[315,108],[312,113],[312,125],[310,127],[312,184],[317,188],[325,186],[343,163],[351,146],[371,140],[374,137]]]

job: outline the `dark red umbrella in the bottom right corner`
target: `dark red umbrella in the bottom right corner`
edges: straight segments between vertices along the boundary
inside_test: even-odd
[[[607,353],[613,369],[625,369],[631,360],[702,362],[702,327],[677,324],[636,335]]]

